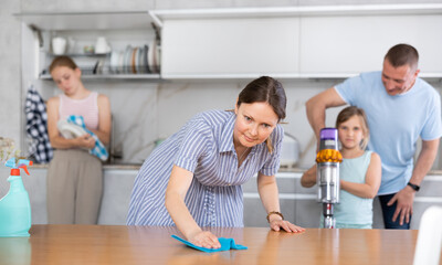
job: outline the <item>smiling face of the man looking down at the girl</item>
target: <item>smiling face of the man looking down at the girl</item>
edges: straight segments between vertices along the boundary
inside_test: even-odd
[[[393,67],[388,60],[383,60],[382,83],[390,96],[408,92],[418,77],[419,70],[406,64]]]

